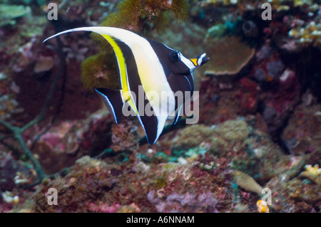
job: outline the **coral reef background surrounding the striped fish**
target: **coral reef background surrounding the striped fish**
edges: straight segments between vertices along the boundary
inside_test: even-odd
[[[49,3],[0,0],[0,212],[320,212],[321,1]],[[93,92],[119,88],[108,42],[43,43],[82,26],[207,53],[198,123],[153,145],[116,125]]]

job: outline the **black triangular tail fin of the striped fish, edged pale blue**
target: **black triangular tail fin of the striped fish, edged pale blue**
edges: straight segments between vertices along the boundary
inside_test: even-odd
[[[121,97],[121,90],[111,88],[96,88],[95,90],[99,97],[101,97],[101,100],[103,100],[103,103],[105,103],[109,112],[112,113],[116,124],[120,123],[123,117],[123,105],[125,104]]]

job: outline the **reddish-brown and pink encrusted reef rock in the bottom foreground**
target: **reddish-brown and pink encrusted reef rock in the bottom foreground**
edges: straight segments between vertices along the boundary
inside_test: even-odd
[[[213,162],[210,170],[201,163]],[[124,163],[121,166],[83,157],[69,174],[44,181],[34,196],[40,212],[195,212],[230,209],[230,169],[211,155],[196,164]],[[58,191],[58,205],[48,206],[46,192]],[[139,191],[139,193],[138,193]]]

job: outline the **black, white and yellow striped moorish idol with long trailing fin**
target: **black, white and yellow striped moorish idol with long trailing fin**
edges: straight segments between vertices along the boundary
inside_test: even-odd
[[[121,122],[123,109],[129,105],[141,122],[148,143],[154,144],[170,115],[175,114],[174,124],[178,122],[184,102],[178,102],[174,93],[177,91],[183,94],[190,92],[189,97],[183,97],[184,100],[192,97],[193,71],[208,62],[205,53],[197,58],[185,58],[182,53],[163,43],[143,38],[121,28],[103,26],[70,29],[57,33],[45,41],[72,31],[98,33],[106,38],[113,47],[118,63],[121,90],[109,88],[96,88],[95,90],[113,114],[117,124]],[[140,93],[140,88],[143,88],[143,99],[133,97]],[[162,92],[169,95],[163,97]],[[165,105],[161,105],[163,103]],[[144,114],[147,106],[150,107],[153,115]]]

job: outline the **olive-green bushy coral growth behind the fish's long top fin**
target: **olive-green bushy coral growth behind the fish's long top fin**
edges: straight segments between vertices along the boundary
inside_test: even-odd
[[[174,19],[185,21],[187,19],[188,2],[185,0],[173,1],[121,1],[118,11],[109,14],[101,23],[101,26],[112,26],[126,28],[145,36],[154,30],[164,30],[169,24],[169,14]],[[153,25],[151,25],[153,24]],[[100,53],[87,58],[82,64],[81,78],[86,88],[93,88],[103,85],[103,87],[118,87],[116,75],[116,61],[109,43],[97,33],[92,34],[93,40],[99,44]],[[113,60],[111,60],[113,58]]]

